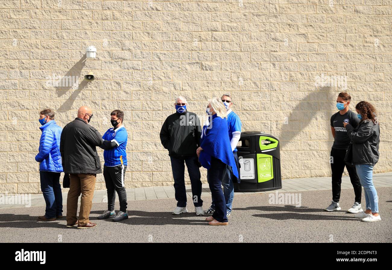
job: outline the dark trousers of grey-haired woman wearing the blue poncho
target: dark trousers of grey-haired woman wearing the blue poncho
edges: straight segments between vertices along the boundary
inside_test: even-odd
[[[207,171],[207,175],[212,201],[215,203],[215,212],[212,217],[219,222],[227,222],[226,201],[221,187],[223,177],[229,177],[225,171],[226,164],[220,159],[212,157],[211,168]]]

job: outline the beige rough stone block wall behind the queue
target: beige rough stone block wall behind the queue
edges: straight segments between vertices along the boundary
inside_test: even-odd
[[[367,100],[378,109],[375,171],[391,171],[391,5],[0,0],[0,192],[40,192],[38,112],[55,109],[64,127],[81,105],[93,108],[91,125],[100,132],[111,127],[113,109],[125,111],[126,187],[171,185],[159,131],[174,98],[185,96],[203,115],[206,100],[224,92],[243,130],[281,140],[282,177],[301,178],[330,175],[329,119],[337,93],[347,89],[354,105]],[[88,45],[97,47],[96,59],[85,59]],[[89,71],[96,80],[87,84]],[[337,86],[315,85],[327,75]],[[80,84],[56,87],[54,76],[80,76]],[[96,188],[105,188],[102,174]]]

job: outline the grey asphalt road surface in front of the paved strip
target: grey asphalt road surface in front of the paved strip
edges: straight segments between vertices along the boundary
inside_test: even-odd
[[[282,192],[283,193],[283,192]],[[287,192],[289,193],[289,192]],[[362,222],[346,212],[354,203],[352,189],[341,190],[341,211],[325,212],[331,190],[302,191],[301,207],[270,203],[270,194],[241,194],[234,197],[228,226],[210,226],[196,216],[191,200],[189,213],[174,216],[175,199],[128,201],[129,219],[98,220],[106,203],[94,203],[89,229],[66,228],[64,218],[40,222],[45,207],[0,210],[0,242],[392,242],[392,187],[377,188],[381,221]],[[275,195],[275,193],[272,193]],[[280,194],[280,193],[279,193]],[[211,203],[202,197],[203,208]],[[362,194],[365,208],[365,196]],[[297,201],[298,203],[298,201]],[[116,210],[119,205],[116,203]]]

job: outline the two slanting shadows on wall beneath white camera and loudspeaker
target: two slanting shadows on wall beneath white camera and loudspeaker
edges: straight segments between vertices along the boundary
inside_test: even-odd
[[[82,69],[86,64],[86,54],[83,55],[82,58],[78,62],[76,62],[71,69],[61,78],[60,85],[56,86],[56,93],[58,97],[63,96],[67,91],[73,90],[71,96],[58,108],[58,111],[66,112],[71,110],[74,101],[76,100],[79,93],[89,84],[86,80],[82,80],[80,84],[78,84],[78,88],[74,89],[73,83],[70,82],[78,82],[80,75],[82,74]],[[64,83],[66,82],[66,83]]]

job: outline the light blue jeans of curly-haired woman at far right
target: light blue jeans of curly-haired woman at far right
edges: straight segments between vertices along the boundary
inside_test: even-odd
[[[367,164],[355,165],[359,181],[365,190],[366,209],[378,213],[378,197],[373,185],[373,166]]]

